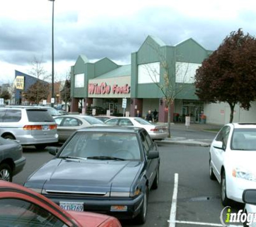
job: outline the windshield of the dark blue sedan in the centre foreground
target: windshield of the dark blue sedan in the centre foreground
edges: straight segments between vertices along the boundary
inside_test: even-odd
[[[141,160],[135,133],[77,132],[65,145],[59,158]]]

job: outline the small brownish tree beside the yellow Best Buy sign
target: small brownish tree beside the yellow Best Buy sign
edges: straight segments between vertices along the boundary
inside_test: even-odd
[[[41,100],[46,100],[49,95],[49,84],[38,80],[25,94],[26,100],[39,104]]]

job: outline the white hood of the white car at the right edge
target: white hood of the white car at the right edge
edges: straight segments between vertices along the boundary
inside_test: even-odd
[[[225,158],[232,168],[242,167],[256,175],[256,151],[231,151]]]

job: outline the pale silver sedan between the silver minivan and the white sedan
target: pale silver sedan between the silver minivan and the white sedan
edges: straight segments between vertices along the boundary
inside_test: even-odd
[[[59,142],[66,141],[75,131],[92,125],[104,125],[104,123],[92,116],[68,115],[55,117]]]

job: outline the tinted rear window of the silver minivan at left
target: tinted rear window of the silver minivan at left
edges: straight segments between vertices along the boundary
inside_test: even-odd
[[[26,110],[29,122],[54,122],[47,110],[29,109]]]

